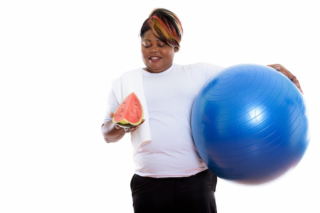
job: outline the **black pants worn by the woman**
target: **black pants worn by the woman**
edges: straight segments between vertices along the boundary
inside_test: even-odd
[[[135,213],[215,213],[217,176],[205,170],[190,177],[152,178],[133,175]]]

